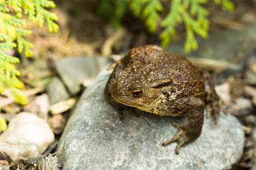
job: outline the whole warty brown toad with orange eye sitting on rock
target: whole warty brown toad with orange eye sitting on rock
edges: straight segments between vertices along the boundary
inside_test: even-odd
[[[176,154],[181,146],[195,141],[207,117],[214,114],[217,124],[219,97],[207,71],[200,71],[180,54],[165,52],[155,45],[131,49],[110,75],[105,96],[123,117],[123,109],[130,107],[160,116],[188,115],[188,125],[172,125],[179,130],[163,146],[177,141]]]

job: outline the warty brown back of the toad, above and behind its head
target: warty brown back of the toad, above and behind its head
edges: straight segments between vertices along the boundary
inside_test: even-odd
[[[168,87],[171,88],[166,88],[168,94],[176,94],[176,97],[192,95],[200,99],[205,97],[201,71],[183,55],[168,53],[158,46],[139,46],[131,49],[123,58],[119,69],[127,73],[125,82],[147,84],[170,78],[172,82]]]

